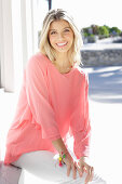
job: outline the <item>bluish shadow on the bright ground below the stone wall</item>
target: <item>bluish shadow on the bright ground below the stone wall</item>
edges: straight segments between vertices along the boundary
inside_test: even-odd
[[[94,67],[89,73],[90,98],[101,103],[122,103],[122,66]]]

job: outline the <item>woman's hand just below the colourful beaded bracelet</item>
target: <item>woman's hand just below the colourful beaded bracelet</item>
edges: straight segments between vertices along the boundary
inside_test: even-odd
[[[70,175],[70,171],[72,169],[72,178],[76,179],[77,178],[77,165],[73,161],[69,153],[66,154],[66,157],[63,159],[63,162],[67,165],[67,176]]]

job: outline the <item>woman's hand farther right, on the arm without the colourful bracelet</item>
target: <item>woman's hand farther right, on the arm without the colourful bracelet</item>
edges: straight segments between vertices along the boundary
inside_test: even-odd
[[[83,172],[86,172],[86,179],[85,179],[85,184],[91,182],[93,180],[93,175],[94,175],[94,168],[89,166],[85,160],[84,157],[81,157],[79,162],[78,162],[78,171],[79,171],[79,175],[82,176]]]

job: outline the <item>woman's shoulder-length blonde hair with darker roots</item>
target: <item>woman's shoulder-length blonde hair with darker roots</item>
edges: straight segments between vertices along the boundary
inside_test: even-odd
[[[39,44],[40,52],[46,55],[52,61],[52,63],[55,64],[56,55],[55,55],[55,50],[51,47],[49,42],[49,29],[50,29],[50,24],[58,19],[67,21],[74,34],[73,44],[68,51],[68,58],[71,66],[74,66],[74,64],[80,65],[81,64],[80,49],[83,45],[82,37],[78,27],[73,22],[73,18],[69,16],[67,11],[63,9],[50,10],[45,15],[42,25],[41,37],[40,37],[40,44]]]

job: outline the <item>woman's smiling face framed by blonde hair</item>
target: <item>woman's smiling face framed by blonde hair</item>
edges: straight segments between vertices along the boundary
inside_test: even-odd
[[[67,52],[73,43],[73,31],[67,21],[54,21],[50,25],[49,40],[56,52]]]

